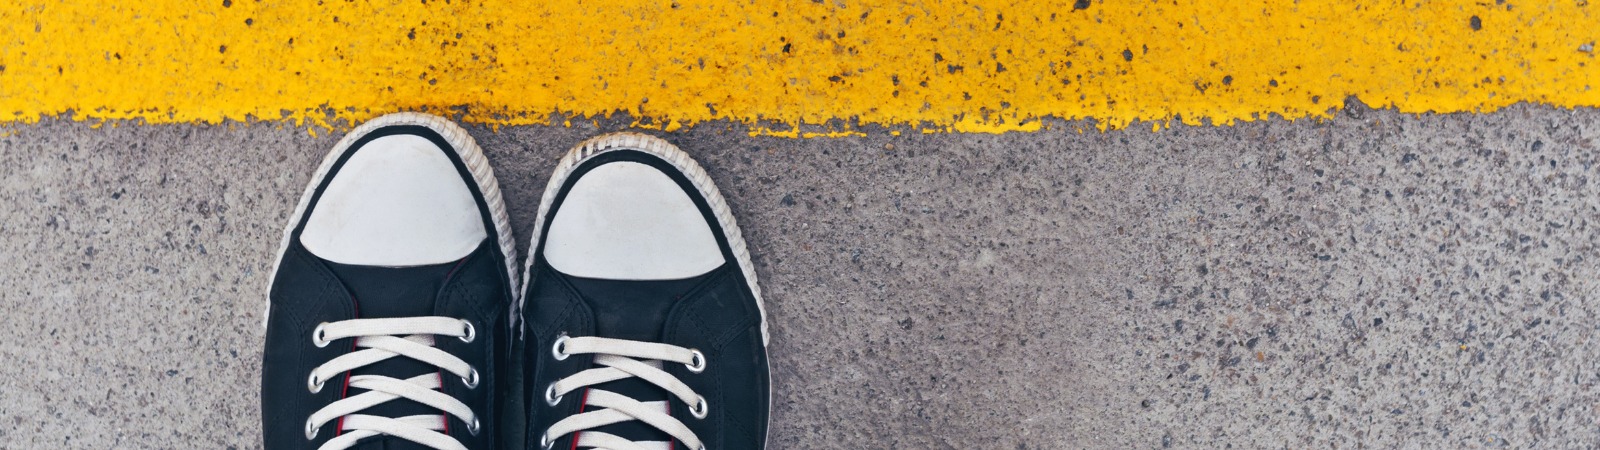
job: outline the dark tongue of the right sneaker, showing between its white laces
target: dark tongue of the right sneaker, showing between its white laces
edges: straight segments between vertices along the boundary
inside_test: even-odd
[[[715,274],[715,271],[712,272]],[[691,293],[712,274],[704,274],[682,280],[598,280],[568,277],[573,288],[582,295],[595,315],[595,335],[602,338],[659,343],[661,330],[667,322],[667,314],[685,295]],[[661,362],[646,362],[656,364]],[[672,362],[666,362],[672,364]],[[640,378],[624,378],[611,383],[592,386],[592,389],[611,391],[640,402],[667,402],[662,412],[669,410],[669,392]],[[582,397],[582,391],[568,396]],[[597,407],[586,405],[586,412]],[[685,420],[685,418],[678,418]],[[672,436],[643,421],[624,421],[602,426],[592,431],[616,434],[634,442],[670,442]]]

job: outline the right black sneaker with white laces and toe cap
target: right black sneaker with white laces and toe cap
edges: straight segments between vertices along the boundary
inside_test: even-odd
[[[562,159],[523,277],[530,448],[763,448],[766,322],[706,171],[619,133]]]

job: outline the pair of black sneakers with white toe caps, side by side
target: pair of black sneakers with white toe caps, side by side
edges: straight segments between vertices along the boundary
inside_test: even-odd
[[[323,159],[285,231],[261,376],[266,448],[762,448],[760,288],[706,171],[589,139],[517,248],[454,123],[390,114]]]

